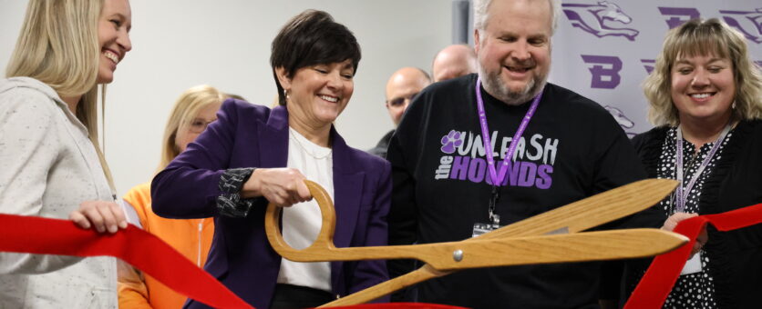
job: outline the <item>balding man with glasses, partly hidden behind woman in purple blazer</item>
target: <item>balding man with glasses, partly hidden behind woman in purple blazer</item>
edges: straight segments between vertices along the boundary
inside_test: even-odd
[[[403,67],[389,77],[389,81],[386,82],[386,109],[389,111],[389,116],[392,117],[395,127],[399,125],[399,121],[413,97],[430,84],[431,77],[426,71],[417,67]],[[368,153],[386,157],[386,148],[394,133],[395,130],[389,131],[381,138],[376,147],[368,150]]]

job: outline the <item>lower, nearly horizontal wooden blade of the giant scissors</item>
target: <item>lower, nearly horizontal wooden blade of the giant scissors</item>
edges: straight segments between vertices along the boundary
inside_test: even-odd
[[[462,242],[440,247],[443,256],[429,261],[438,270],[521,264],[570,263],[637,258],[664,254],[688,242],[681,234],[654,228],[578,234],[511,237]],[[453,259],[460,250],[460,261]]]

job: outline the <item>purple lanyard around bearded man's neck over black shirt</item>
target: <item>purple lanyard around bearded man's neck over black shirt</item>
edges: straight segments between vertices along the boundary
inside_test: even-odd
[[[479,111],[479,124],[481,125],[481,138],[484,142],[484,156],[487,157],[489,177],[492,179],[492,185],[498,186],[499,184],[502,184],[503,179],[505,179],[505,174],[508,171],[508,164],[510,164],[510,160],[513,158],[513,152],[516,150],[516,145],[518,145],[521,135],[524,135],[524,130],[527,128],[527,125],[530,124],[530,119],[534,115],[534,112],[537,110],[537,105],[540,105],[542,91],[532,100],[530,109],[527,111],[527,115],[524,115],[524,119],[521,120],[519,129],[516,130],[516,134],[513,135],[513,139],[510,140],[508,153],[505,154],[506,158],[503,160],[503,164],[500,165],[500,171],[498,173],[495,167],[495,159],[492,157],[492,144],[489,140],[489,128],[487,127],[487,113],[484,111],[484,100],[481,98],[480,87],[481,76],[477,78],[476,86],[477,109]]]

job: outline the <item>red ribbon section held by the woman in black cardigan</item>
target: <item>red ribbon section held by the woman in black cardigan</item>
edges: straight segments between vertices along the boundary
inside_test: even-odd
[[[672,286],[691,254],[695,238],[701,229],[709,223],[719,231],[731,231],[753,224],[762,223],[762,204],[756,204],[723,214],[705,214],[685,219],[674,227],[674,233],[683,234],[690,239],[687,244],[674,251],[654,258],[643,279],[635,287],[624,309],[661,308]],[[711,239],[710,239],[711,241]]]

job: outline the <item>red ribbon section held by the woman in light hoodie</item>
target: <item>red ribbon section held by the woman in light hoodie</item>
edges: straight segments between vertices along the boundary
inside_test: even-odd
[[[159,237],[130,224],[116,234],[98,234],[67,220],[0,214],[0,252],[120,258],[176,292],[214,308],[251,308],[211,274]],[[149,253],[149,254],[147,254]],[[459,308],[440,304],[366,304],[346,308]]]

